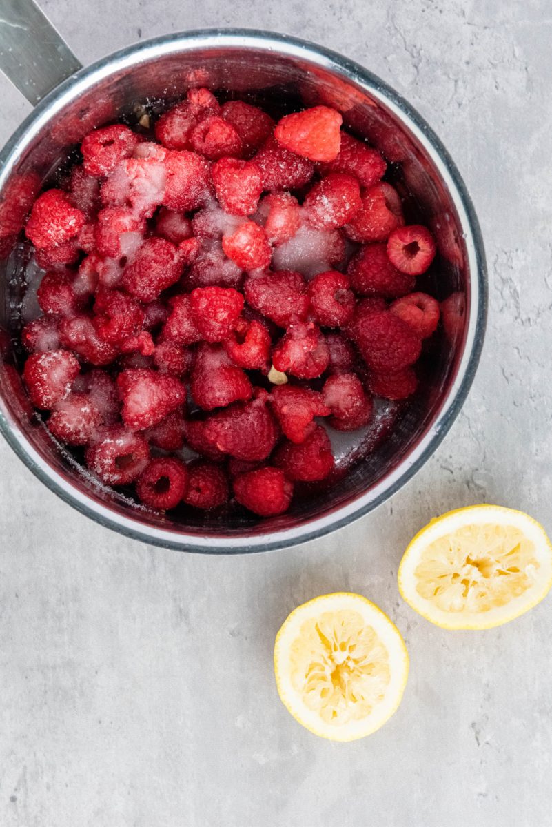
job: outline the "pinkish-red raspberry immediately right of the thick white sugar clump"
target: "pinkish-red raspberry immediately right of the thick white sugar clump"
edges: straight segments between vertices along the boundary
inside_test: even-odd
[[[211,167],[195,152],[169,152],[163,203],[176,213],[204,207],[212,197]]]

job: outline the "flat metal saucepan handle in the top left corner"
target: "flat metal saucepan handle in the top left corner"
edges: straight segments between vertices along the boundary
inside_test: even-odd
[[[81,68],[34,0],[0,0],[0,69],[33,106]]]

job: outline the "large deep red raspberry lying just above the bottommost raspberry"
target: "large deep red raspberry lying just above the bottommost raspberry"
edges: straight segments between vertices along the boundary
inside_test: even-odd
[[[278,439],[278,427],[263,399],[236,402],[208,417],[205,436],[219,451],[239,460],[269,456]]]

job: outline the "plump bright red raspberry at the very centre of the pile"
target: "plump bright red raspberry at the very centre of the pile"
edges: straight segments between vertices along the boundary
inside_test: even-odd
[[[222,342],[230,336],[244,306],[237,290],[198,287],[190,294],[193,323],[206,342]]]

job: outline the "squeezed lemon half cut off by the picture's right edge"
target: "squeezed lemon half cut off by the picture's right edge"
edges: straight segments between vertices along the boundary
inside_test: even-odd
[[[443,629],[500,626],[539,603],[550,586],[545,529],[499,505],[473,505],[432,520],[398,570],[404,600]]]

